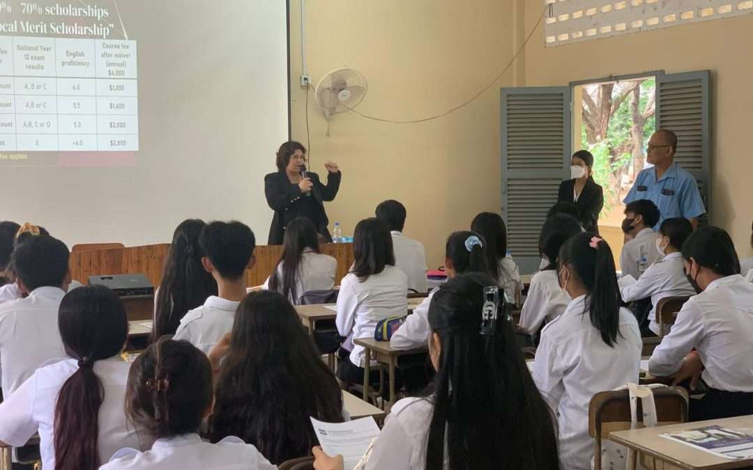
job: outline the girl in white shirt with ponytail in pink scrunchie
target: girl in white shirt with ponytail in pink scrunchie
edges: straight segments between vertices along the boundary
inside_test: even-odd
[[[533,379],[559,417],[562,468],[590,468],[588,405],[596,393],[638,382],[641,332],[620,308],[611,249],[593,233],[562,245],[559,285],[572,302],[541,332]]]

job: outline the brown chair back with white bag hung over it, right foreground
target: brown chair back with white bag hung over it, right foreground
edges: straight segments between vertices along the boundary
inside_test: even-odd
[[[687,422],[686,390],[681,387],[660,387],[652,391],[660,426]],[[642,427],[641,406],[639,400],[636,415],[639,426]],[[628,390],[599,392],[591,398],[588,405],[588,434],[593,437],[593,468],[596,470],[602,468],[602,439],[608,438],[610,432],[630,429],[630,423],[630,392]]]

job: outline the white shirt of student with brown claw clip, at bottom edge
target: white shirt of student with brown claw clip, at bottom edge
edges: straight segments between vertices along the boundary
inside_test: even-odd
[[[151,450],[121,449],[100,470],[164,468],[176,470],[276,470],[254,447],[228,436],[217,444],[202,441],[198,434],[157,439]]]

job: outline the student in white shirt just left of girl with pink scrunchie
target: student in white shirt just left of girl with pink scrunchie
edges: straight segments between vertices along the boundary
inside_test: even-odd
[[[557,281],[557,258],[562,244],[581,232],[581,223],[566,214],[550,217],[541,227],[538,252],[546,260],[546,265],[531,279],[518,325],[529,335],[536,335],[544,321],[548,323],[559,317],[569,305],[570,298],[562,292]]]

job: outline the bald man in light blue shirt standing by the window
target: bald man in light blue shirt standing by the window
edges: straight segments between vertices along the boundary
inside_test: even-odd
[[[677,136],[660,129],[648,141],[646,160],[654,165],[643,169],[636,177],[625,204],[638,199],[648,199],[659,208],[661,218],[654,226],[656,231],[665,219],[685,217],[695,228],[698,217],[706,214],[698,183],[692,174],[675,165]]]

